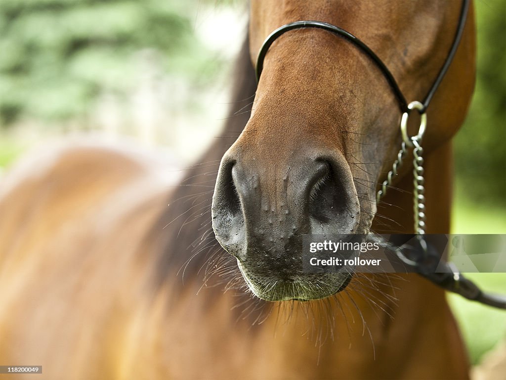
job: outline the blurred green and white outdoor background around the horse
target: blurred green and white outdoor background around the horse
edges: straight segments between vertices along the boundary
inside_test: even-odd
[[[505,234],[506,2],[475,6],[478,78],[455,138],[452,232]],[[220,133],[246,21],[239,0],[0,0],[0,178],[41,140],[82,132],[189,165]],[[506,274],[469,276],[506,292]],[[506,336],[506,313],[450,302],[477,363]]]

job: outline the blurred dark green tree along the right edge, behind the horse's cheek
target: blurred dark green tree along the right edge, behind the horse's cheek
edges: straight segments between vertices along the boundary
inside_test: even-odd
[[[506,209],[506,2],[477,0],[478,72],[455,138],[457,184],[474,202]]]

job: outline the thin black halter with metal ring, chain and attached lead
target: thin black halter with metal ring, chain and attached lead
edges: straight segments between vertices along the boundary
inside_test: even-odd
[[[444,267],[442,273],[440,272],[435,273],[434,269],[430,268],[430,265],[427,264],[427,262],[433,261],[434,258],[439,259],[439,257],[437,256],[437,252],[435,252],[433,249],[431,249],[430,246],[428,246],[428,243],[424,238],[425,225],[426,225],[425,196],[424,196],[425,178],[423,167],[424,150],[421,147],[421,142],[427,127],[427,107],[429,106],[432,98],[434,97],[434,94],[436,93],[439,85],[441,84],[444,75],[446,74],[448,68],[450,67],[453,57],[455,56],[455,52],[457,51],[458,45],[460,43],[463,34],[464,27],[466,25],[468,11],[469,11],[469,0],[462,0],[462,7],[460,9],[458,26],[450,51],[448,52],[446,60],[443,66],[441,67],[441,70],[439,71],[436,80],[432,84],[424,100],[421,102],[412,101],[408,103],[406,101],[406,98],[404,97],[402,91],[400,90],[399,85],[397,84],[394,76],[392,75],[392,72],[388,69],[385,63],[364,42],[358,39],[358,37],[338,26],[322,21],[291,22],[289,24],[280,26],[279,28],[274,30],[271,34],[269,34],[267,39],[264,41],[262,47],[260,48],[257,57],[257,65],[256,65],[257,82],[260,80],[260,75],[262,74],[264,59],[267,54],[267,51],[280,35],[290,30],[304,29],[304,28],[323,29],[339,37],[344,38],[345,40],[351,42],[353,45],[358,47],[363,53],[365,53],[382,71],[385,79],[392,88],[395,97],[397,98],[400,110],[402,112],[401,125],[400,125],[400,130],[402,134],[401,149],[397,154],[397,159],[394,161],[392,165],[392,169],[387,174],[387,179],[383,181],[383,183],[381,184],[381,189],[376,194],[377,203],[379,203],[381,198],[387,194],[387,189],[392,184],[393,178],[397,176],[397,172],[403,163],[403,159],[407,154],[408,148],[413,148],[414,229],[418,238],[417,239],[419,244],[418,248],[423,252],[423,259],[412,261],[399,248],[397,251],[400,254],[400,257],[406,264],[411,265],[411,267],[413,267],[419,275],[424,276],[425,278],[429,279],[436,285],[439,285],[446,290],[458,293],[463,297],[476,300],[489,306],[506,309],[506,297],[484,293],[471,280],[465,278],[452,263],[448,262],[441,263],[442,266]],[[418,132],[416,135],[409,136],[407,132],[407,122],[409,119],[410,112],[413,109],[416,109],[420,115],[420,126],[418,128]]]

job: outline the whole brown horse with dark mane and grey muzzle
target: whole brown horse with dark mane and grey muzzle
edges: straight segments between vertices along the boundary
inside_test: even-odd
[[[230,139],[174,191],[157,167],[99,147],[59,149],[14,170],[0,192],[0,365],[42,365],[50,379],[468,377],[435,285],[364,275],[317,290],[289,271],[288,257],[300,254],[292,241],[315,225],[413,232],[409,167],[375,201],[401,141],[381,71],[317,29],[280,37],[258,88],[251,65],[278,26],[325,21],[359,36],[418,99],[447,56],[460,6],[252,2]],[[449,231],[449,139],[473,90],[474,32],[471,10],[428,110],[428,233]]]

